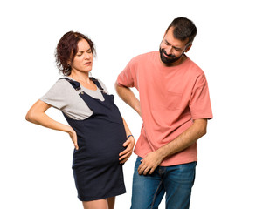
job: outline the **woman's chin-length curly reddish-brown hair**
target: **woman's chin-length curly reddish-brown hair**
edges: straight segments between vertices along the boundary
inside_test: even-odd
[[[82,38],[86,39],[90,45],[93,57],[96,55],[94,44],[89,37],[80,32],[67,32],[60,38],[55,53],[57,67],[64,76],[69,76],[71,73],[70,63],[78,52],[78,43]]]

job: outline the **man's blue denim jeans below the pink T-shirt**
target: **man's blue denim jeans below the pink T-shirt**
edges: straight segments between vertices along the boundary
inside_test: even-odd
[[[135,162],[131,209],[156,209],[166,193],[166,209],[188,209],[197,162],[158,166],[151,175],[139,175],[141,157]]]

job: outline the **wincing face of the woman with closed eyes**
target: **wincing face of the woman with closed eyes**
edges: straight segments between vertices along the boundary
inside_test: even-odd
[[[86,39],[82,38],[78,43],[78,52],[71,63],[72,71],[89,72],[93,67],[93,52]]]

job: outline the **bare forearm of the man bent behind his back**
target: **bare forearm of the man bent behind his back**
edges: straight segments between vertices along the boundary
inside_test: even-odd
[[[114,84],[114,87],[118,96],[142,117],[141,104],[139,99],[135,97],[134,92],[128,87],[119,85],[117,83]]]

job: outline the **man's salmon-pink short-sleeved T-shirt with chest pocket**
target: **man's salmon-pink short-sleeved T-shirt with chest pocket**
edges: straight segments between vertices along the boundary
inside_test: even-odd
[[[144,158],[187,130],[192,120],[212,118],[208,84],[189,57],[174,67],[161,64],[159,51],[133,58],[121,71],[117,83],[139,91],[142,131],[135,153]],[[161,165],[197,161],[197,143],[164,159]]]

